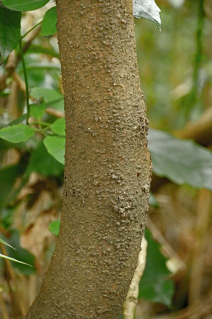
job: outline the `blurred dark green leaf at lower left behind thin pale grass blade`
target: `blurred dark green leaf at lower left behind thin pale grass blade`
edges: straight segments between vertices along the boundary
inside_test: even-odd
[[[35,265],[35,257],[26,249],[20,246],[20,236],[16,230],[10,231],[10,238],[7,239],[7,242],[16,248],[16,250],[12,250],[10,247],[5,247],[8,256],[12,256],[11,260],[13,263],[13,267],[18,269],[21,273],[29,276],[36,272],[36,269],[33,267]],[[17,263],[17,261],[20,261]],[[31,267],[28,267],[31,266]]]

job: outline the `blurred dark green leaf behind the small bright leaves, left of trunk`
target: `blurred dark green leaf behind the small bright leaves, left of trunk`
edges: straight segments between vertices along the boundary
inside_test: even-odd
[[[43,176],[58,176],[63,170],[64,165],[47,152],[43,142],[32,152],[26,168],[27,174],[35,171]]]

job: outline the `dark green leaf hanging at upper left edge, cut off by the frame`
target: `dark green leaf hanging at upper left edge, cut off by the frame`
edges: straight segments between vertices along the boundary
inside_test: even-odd
[[[20,38],[21,12],[0,7],[0,64],[16,48]]]

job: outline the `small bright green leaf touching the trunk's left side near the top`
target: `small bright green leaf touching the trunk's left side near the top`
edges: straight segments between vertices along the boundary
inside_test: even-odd
[[[48,9],[44,15],[42,25],[41,25],[41,32],[44,36],[50,36],[57,32],[57,10],[56,6],[51,7]]]

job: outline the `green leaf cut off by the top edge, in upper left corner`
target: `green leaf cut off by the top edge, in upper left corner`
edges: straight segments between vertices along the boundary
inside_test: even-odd
[[[10,10],[31,11],[41,8],[49,0],[2,0],[2,2]]]

